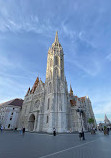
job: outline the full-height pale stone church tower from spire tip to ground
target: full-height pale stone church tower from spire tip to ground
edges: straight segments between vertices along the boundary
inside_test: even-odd
[[[68,91],[64,76],[64,53],[57,32],[48,51],[45,91],[44,128],[47,132],[52,132],[54,127],[57,132],[66,132]]]

